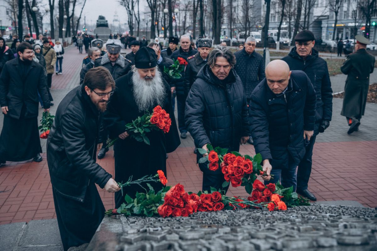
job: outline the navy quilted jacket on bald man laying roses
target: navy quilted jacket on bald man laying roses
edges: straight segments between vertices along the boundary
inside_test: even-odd
[[[286,92],[274,94],[266,79],[255,87],[250,100],[250,128],[256,153],[274,166],[298,164],[305,154],[303,131],[314,129],[316,94],[309,78],[293,70]]]

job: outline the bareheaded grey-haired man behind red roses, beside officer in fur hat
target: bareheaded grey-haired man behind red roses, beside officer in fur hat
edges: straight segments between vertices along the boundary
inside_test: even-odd
[[[181,47],[172,54],[172,60],[176,61],[178,57],[187,60],[188,57],[195,55],[198,51],[193,50],[190,46],[190,37],[183,35],[181,37]],[[178,112],[178,129],[181,133],[181,138],[185,139],[187,137],[187,129],[185,125],[185,102],[187,94],[189,93],[189,86],[185,86],[185,72],[182,72],[182,78],[178,80],[173,80],[175,83],[175,91],[177,95],[177,112]]]

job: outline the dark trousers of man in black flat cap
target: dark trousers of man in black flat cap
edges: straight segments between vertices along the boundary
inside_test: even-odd
[[[309,144],[305,147],[305,155],[299,163],[297,168],[297,189],[305,190],[308,189],[308,182],[311,173],[311,157],[313,156],[313,147],[316,142],[317,136],[312,136],[310,138]]]

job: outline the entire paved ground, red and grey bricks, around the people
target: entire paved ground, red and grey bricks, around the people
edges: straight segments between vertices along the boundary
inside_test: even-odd
[[[77,86],[83,57],[75,47],[66,49],[63,75],[53,76],[53,114],[66,93]],[[367,104],[360,130],[352,135],[346,133],[348,126],[340,116],[341,104],[342,99],[334,99],[331,125],[317,137],[310,188],[318,200],[356,200],[365,206],[377,207],[377,104]],[[41,144],[45,152],[46,140],[42,139]],[[254,148],[242,145],[241,153],[254,154]],[[42,156],[44,160],[40,163],[7,162],[0,168],[0,224],[56,218],[46,154]],[[112,150],[98,163],[114,173]],[[187,191],[201,189],[202,173],[195,163],[190,136],[169,154],[167,177],[169,184],[180,182]],[[100,188],[99,192],[105,208],[113,208],[113,194]],[[245,196],[246,193],[242,188],[231,187],[228,195]]]

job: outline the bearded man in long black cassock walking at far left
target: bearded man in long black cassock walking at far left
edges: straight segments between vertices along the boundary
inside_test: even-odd
[[[5,161],[42,161],[38,132],[38,92],[49,111],[46,77],[33,61],[33,47],[22,42],[18,58],[5,63],[0,75],[0,106],[4,114],[0,135],[0,165]]]

